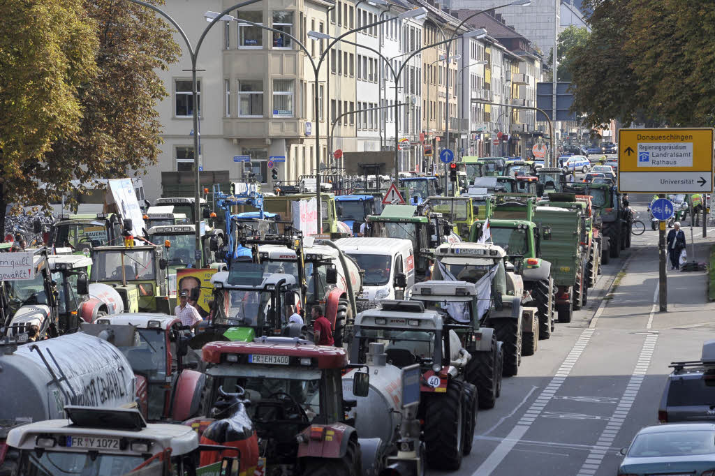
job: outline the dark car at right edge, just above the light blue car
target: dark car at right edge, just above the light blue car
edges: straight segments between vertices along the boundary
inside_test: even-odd
[[[703,344],[700,360],[672,362],[658,420],[669,422],[715,421],[715,340]]]

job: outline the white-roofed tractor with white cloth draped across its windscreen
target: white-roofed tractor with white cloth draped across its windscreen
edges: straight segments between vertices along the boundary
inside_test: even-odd
[[[442,244],[435,249],[435,259],[433,279],[471,282],[486,293],[491,304],[482,323],[503,342],[503,375],[516,375],[524,335],[529,334],[530,342],[538,340],[539,326],[536,316],[524,312],[523,281],[506,252],[491,243]]]

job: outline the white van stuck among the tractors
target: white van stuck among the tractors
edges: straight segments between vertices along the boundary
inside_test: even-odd
[[[405,276],[405,299],[415,284],[412,242],[401,238],[341,238],[335,244],[365,270],[360,299],[395,299],[395,277]]]

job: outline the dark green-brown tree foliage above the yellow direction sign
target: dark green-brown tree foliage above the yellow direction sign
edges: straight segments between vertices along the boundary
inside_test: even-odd
[[[591,35],[571,49],[574,110],[586,122],[715,123],[715,2],[588,0]]]

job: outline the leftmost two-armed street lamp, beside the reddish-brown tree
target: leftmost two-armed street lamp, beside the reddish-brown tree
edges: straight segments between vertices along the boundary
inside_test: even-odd
[[[201,267],[201,180],[200,180],[200,174],[199,174],[199,94],[198,94],[198,87],[197,87],[197,79],[196,79],[196,64],[197,64],[197,59],[199,56],[199,49],[201,48],[201,45],[204,42],[204,38],[208,34],[209,30],[211,29],[212,26],[214,26],[218,21],[221,21],[224,19],[226,14],[232,10],[235,9],[240,9],[242,6],[247,6],[251,4],[255,4],[260,0],[246,0],[241,2],[240,4],[235,4],[234,6],[231,6],[224,11],[222,11],[220,14],[216,14],[216,17],[214,19],[209,19],[211,23],[204,29],[202,32],[201,36],[199,36],[199,41],[197,41],[196,48],[191,45],[191,41],[189,41],[188,36],[184,33],[184,30],[182,29],[181,26],[177,23],[176,20],[174,20],[169,14],[167,14],[165,11],[162,9],[159,9],[157,6],[154,6],[152,4],[148,4],[145,1],[141,0],[128,0],[131,1],[134,4],[146,6],[148,9],[152,9],[156,11],[159,15],[164,16],[165,19],[169,21],[172,25],[174,25],[174,28],[177,29],[179,32],[179,35],[184,39],[184,42],[186,43],[186,47],[189,50],[189,56],[191,58],[191,89],[192,89],[192,101],[193,101],[193,124],[194,124],[194,177],[196,179],[196,189],[195,189],[195,194],[194,194],[194,200],[196,200],[196,203],[194,203],[194,227],[196,228],[196,249],[194,250],[194,265],[195,267],[200,268]]]

